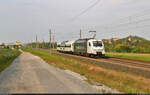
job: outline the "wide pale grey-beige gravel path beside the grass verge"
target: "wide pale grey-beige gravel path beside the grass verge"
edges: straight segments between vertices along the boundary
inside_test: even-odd
[[[23,52],[0,73],[0,93],[99,93],[65,70],[50,66],[41,58]]]

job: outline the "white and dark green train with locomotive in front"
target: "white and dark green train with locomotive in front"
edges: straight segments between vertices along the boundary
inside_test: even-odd
[[[57,45],[57,51],[90,57],[104,57],[105,49],[102,40],[84,38],[72,41],[63,41]]]

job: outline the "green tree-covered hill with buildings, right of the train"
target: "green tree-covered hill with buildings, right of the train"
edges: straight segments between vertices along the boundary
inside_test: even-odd
[[[129,36],[111,43],[104,40],[106,52],[127,52],[127,53],[150,53],[150,41],[137,37]]]

